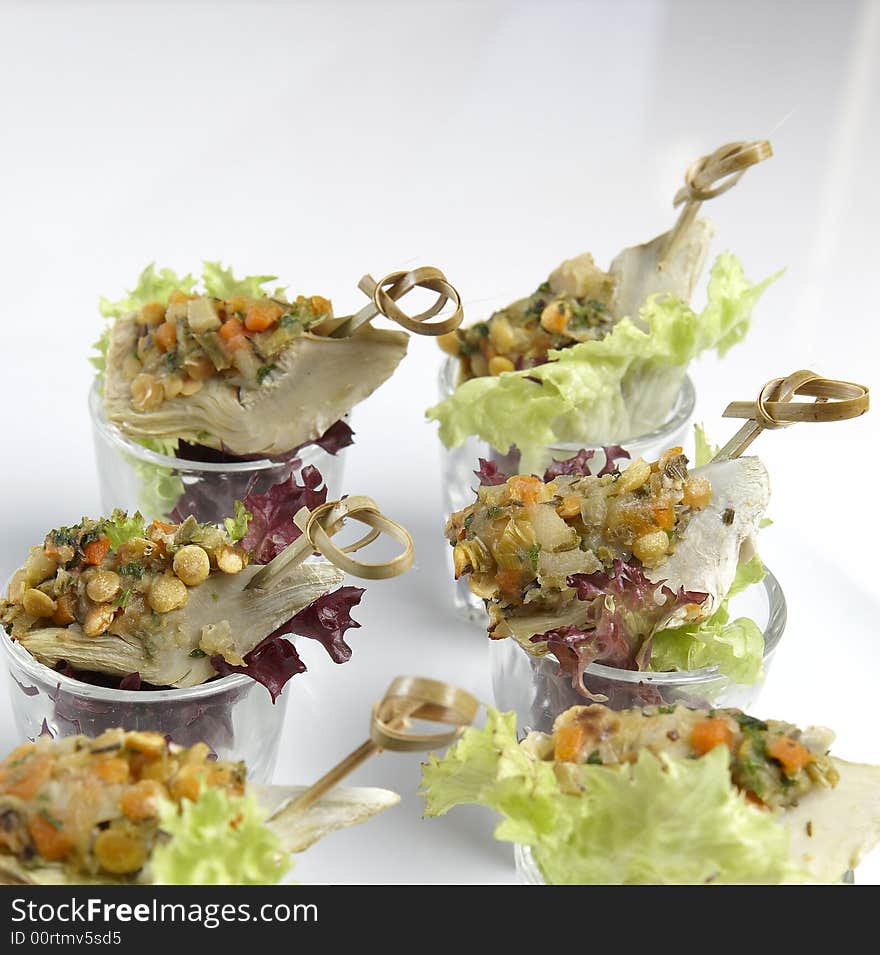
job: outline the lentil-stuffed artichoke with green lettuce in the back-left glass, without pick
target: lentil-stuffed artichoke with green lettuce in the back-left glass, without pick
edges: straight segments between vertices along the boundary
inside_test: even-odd
[[[151,442],[238,456],[280,455],[321,440],[394,372],[402,331],[343,338],[320,295],[267,291],[206,262],[199,280],[149,266],[98,343],[107,419]]]

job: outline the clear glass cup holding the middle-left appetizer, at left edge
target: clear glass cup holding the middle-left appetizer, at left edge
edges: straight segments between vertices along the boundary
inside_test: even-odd
[[[9,696],[18,736],[36,739],[84,733],[95,737],[121,726],[163,733],[181,746],[207,743],[220,759],[244,760],[254,782],[272,780],[287,689],[275,703],[268,690],[241,674],[188,689],[116,690],[49,669],[0,627]]]

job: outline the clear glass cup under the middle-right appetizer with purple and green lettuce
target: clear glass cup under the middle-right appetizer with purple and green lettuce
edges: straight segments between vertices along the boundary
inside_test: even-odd
[[[593,693],[607,696],[605,705],[612,709],[682,703],[749,711],[758,699],[785,631],[785,596],[773,574],[768,571],[761,583],[731,598],[730,613],[734,619],[750,617],[764,634],[763,672],[755,683],[735,683],[717,667],[652,673],[594,663],[587,667],[584,685]],[[489,659],[495,706],[516,712],[523,735],[532,730],[549,733],[560,713],[589,702],[572,687],[571,677],[560,672],[559,662],[551,654],[533,656],[508,638],[490,641]]]

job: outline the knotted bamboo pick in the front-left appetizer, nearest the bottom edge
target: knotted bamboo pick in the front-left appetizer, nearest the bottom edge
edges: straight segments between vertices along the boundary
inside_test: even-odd
[[[301,793],[288,811],[308,809],[361,763],[382,750],[412,753],[448,746],[473,723],[479,708],[476,697],[450,683],[420,676],[397,677],[385,696],[373,706],[370,738]],[[414,719],[445,723],[453,729],[442,733],[407,732],[410,720]]]

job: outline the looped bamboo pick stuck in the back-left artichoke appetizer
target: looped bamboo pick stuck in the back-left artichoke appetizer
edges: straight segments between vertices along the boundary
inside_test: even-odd
[[[342,324],[330,333],[331,338],[346,338],[353,335],[362,325],[371,322],[377,315],[384,315],[407,331],[413,332],[413,334],[435,336],[446,335],[454,331],[461,325],[464,318],[461,296],[455,286],[449,282],[440,269],[435,269],[430,265],[410,269],[408,272],[391,272],[380,282],[377,282],[371,275],[365,275],[358,282],[358,288],[370,296],[370,303],[359,312],[343,320]],[[424,288],[436,292],[437,300],[424,312],[419,312],[417,315],[407,315],[397,305],[397,301],[415,288]],[[435,315],[439,315],[449,302],[455,307],[452,315],[442,321],[431,322],[430,320]]]

